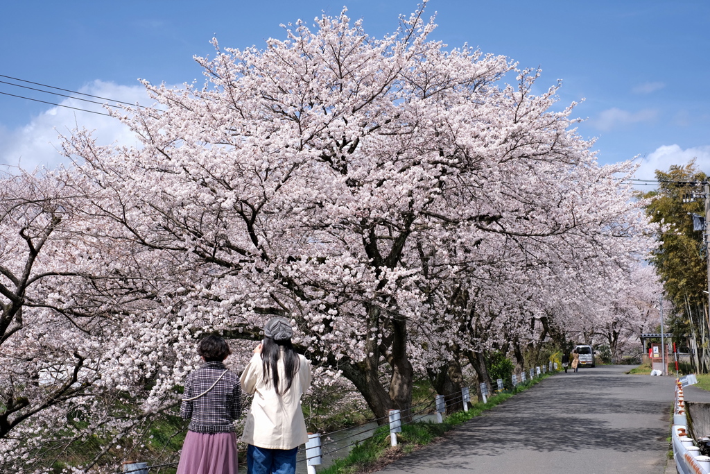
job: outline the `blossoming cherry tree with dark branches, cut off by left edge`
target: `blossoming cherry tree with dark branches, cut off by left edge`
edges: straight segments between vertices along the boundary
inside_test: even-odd
[[[89,408],[102,425],[108,387],[99,366],[115,308],[130,296],[94,264],[106,249],[79,201],[52,176],[1,179],[0,460],[8,468],[62,451]],[[66,436],[55,436],[58,427]]]

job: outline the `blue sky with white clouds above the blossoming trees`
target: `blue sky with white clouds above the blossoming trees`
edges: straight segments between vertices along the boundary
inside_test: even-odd
[[[0,74],[145,102],[138,78],[201,82],[192,55],[212,54],[213,36],[222,46],[261,46],[284,37],[280,23],[337,15],[343,5],[374,36],[417,7],[400,0],[5,2]],[[540,66],[541,88],[563,81],[561,107],[585,98],[579,131],[598,137],[601,163],[645,156],[639,176],[650,177],[697,157],[710,172],[710,1],[430,0],[427,16],[435,12],[433,39]],[[100,109],[11,85],[0,92]],[[107,142],[131,140],[108,117],[0,95],[0,163],[54,166],[62,159],[56,136],[75,124]]]

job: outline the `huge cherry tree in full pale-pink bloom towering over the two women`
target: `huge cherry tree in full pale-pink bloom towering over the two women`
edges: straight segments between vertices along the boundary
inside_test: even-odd
[[[263,50],[214,41],[204,85],[145,82],[154,107],[111,112],[140,146],[65,140],[76,166],[56,182],[81,198],[58,239],[72,274],[47,294],[87,296],[47,311],[67,328],[95,315],[76,330],[103,338],[77,373],[90,362],[92,387],[136,400],[120,420],[87,409],[114,416],[107,449],[175,405],[206,333],[239,367],[268,318],[290,318],[322,383],[342,375],[376,417],[406,414],[415,374],[445,374],[442,392],[465,363],[485,379],[486,350],[564,325],[578,292],[648,249],[618,179],[631,164],[596,163],[574,104],[555,110],[559,84],[535,94],[538,70],[446,50],[422,16],[381,39],[343,11]]]

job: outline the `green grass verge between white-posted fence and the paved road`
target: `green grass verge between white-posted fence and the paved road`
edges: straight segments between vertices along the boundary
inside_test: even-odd
[[[469,411],[457,411],[444,419],[442,424],[417,422],[402,426],[402,432],[398,433],[398,446],[390,446],[390,431],[388,426],[381,426],[375,434],[357,446],[352,448],[348,456],[335,461],[328,468],[319,470],[320,474],[362,474],[379,470],[394,460],[401,458],[405,454],[415,451],[421,446],[432,443],[450,429],[469,421],[474,416],[479,416],[483,411],[489,410],[498,404],[505,402],[515,394],[524,392],[547,377],[550,373],[541,377],[520,384],[515,389],[502,392],[488,398],[485,404],[479,402],[469,406]]]

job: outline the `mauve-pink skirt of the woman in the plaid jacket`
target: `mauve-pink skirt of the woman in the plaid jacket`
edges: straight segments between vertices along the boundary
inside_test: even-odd
[[[236,474],[236,433],[187,431],[177,474]]]

